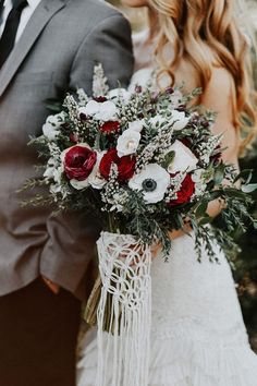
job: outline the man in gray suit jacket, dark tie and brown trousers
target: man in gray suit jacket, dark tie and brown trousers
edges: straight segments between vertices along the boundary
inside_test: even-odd
[[[0,0],[0,384],[74,386],[81,301],[97,228],[81,216],[22,207],[35,176],[46,99],[90,93],[133,71],[127,21],[99,0]]]

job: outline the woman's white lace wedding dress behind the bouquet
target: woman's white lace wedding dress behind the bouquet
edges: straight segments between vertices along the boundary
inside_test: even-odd
[[[144,47],[140,40],[138,46]],[[139,70],[134,81],[148,75],[149,69]],[[257,357],[248,343],[232,273],[218,245],[216,253],[220,264],[210,263],[205,252],[198,263],[192,234],[174,240],[168,263],[154,260],[149,386],[257,385]],[[77,386],[95,386],[94,331],[84,345]]]

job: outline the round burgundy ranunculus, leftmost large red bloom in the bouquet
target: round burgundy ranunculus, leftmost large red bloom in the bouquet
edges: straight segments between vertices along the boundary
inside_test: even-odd
[[[70,147],[64,155],[64,170],[69,180],[85,180],[91,172],[97,160],[96,152],[87,145]]]

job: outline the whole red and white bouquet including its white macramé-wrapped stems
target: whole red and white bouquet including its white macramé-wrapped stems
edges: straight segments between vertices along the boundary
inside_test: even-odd
[[[186,96],[180,88],[156,92],[150,84],[133,92],[110,91],[101,65],[95,69],[93,83],[93,97],[82,89],[76,96],[68,95],[62,111],[50,116],[42,135],[32,140],[46,159],[38,182],[49,186],[48,198],[59,209],[90,210],[101,218],[100,278],[87,314],[98,313],[101,329],[113,336],[130,335],[128,346],[144,336],[145,347],[150,245],[159,244],[162,256],[172,258],[169,231],[188,221],[198,258],[206,248],[210,261],[216,260],[212,239],[231,248],[228,231],[244,229],[245,220],[253,220],[247,193],[256,186],[246,172],[237,176],[232,165],[221,160],[221,136],[211,133],[215,114],[188,106],[199,89]],[[28,181],[26,186],[35,184]],[[227,231],[208,225],[212,218],[207,207],[215,200],[223,203]],[[137,331],[134,340],[132,326]],[[133,351],[128,346],[126,351]],[[115,352],[118,362],[120,354]],[[138,361],[134,358],[134,365]],[[134,376],[130,385],[143,379],[136,371]]]

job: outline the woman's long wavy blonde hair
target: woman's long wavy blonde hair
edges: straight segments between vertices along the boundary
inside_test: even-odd
[[[149,0],[149,5],[155,34],[158,28],[155,55],[159,76],[168,73],[174,84],[174,72],[181,58],[195,68],[203,92],[210,81],[213,65],[231,73],[234,80],[234,124],[242,131],[241,150],[244,150],[256,135],[257,116],[250,50],[236,22],[235,11],[244,9],[242,1]],[[164,55],[167,45],[171,45],[174,52],[170,61]]]

